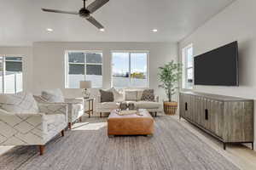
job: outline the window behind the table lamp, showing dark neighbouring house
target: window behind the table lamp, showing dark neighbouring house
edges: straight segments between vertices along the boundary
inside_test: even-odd
[[[79,88],[79,82],[85,80],[91,81],[92,88],[102,88],[102,53],[68,51],[66,88]]]

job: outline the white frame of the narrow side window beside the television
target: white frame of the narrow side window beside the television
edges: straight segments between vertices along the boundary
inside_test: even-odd
[[[187,66],[188,65],[188,50],[189,48],[192,48],[192,66]],[[193,44],[189,44],[188,46],[184,47],[182,49],[182,55],[183,55],[183,88],[186,89],[192,89],[194,86],[194,48],[193,48]],[[193,75],[193,82],[192,82],[192,86],[189,86],[189,83],[187,82],[188,80],[188,71],[192,69],[192,75]]]

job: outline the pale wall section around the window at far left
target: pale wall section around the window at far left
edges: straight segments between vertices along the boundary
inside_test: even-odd
[[[32,91],[32,47],[0,47],[1,55],[19,55],[23,57],[23,91]]]

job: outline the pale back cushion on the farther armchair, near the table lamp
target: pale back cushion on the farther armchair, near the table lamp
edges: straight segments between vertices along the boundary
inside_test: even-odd
[[[59,88],[42,91],[42,98],[52,103],[64,102],[63,94]]]

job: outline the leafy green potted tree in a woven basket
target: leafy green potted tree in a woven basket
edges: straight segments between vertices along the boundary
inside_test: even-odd
[[[166,90],[168,101],[164,101],[164,111],[166,115],[175,115],[177,111],[177,102],[172,101],[172,95],[176,94],[178,82],[182,77],[182,64],[174,63],[172,60],[163,67],[159,67],[160,88]]]

